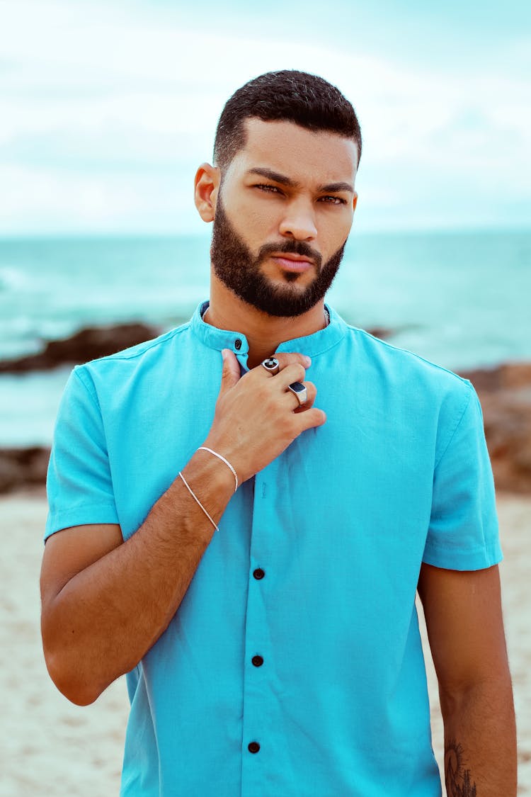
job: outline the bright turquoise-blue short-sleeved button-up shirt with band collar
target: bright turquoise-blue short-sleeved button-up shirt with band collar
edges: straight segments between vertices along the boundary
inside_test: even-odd
[[[201,446],[221,349],[244,370],[248,354],[243,335],[205,324],[205,306],[73,371],[47,536],[119,523],[127,540]],[[121,794],[436,797],[415,595],[423,562],[501,558],[478,398],[333,310],[279,351],[312,358],[326,424],[240,485],[170,626],[128,673]]]

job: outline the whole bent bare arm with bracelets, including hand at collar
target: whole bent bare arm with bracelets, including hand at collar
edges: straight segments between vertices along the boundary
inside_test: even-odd
[[[228,354],[205,445],[232,462],[241,483],[325,415],[312,406],[311,383],[307,408],[292,411],[296,398],[286,388],[304,379],[301,355],[278,355],[278,375],[259,366],[240,379],[236,358]],[[217,523],[234,489],[230,470],[197,451],[183,474]],[[135,667],[177,611],[213,532],[177,477],[126,542],[112,524],[50,537],[41,571],[41,628],[49,673],[66,697],[91,703]]]

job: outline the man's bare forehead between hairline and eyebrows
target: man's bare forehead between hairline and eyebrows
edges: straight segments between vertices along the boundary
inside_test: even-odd
[[[353,139],[336,133],[313,132],[293,122],[245,120],[247,140],[231,167],[244,173],[266,167],[299,183],[354,182],[357,147]]]

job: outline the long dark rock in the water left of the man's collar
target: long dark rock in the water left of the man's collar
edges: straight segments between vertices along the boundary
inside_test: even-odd
[[[0,374],[46,371],[66,364],[87,363],[88,360],[141,344],[159,334],[160,329],[147,324],[87,327],[64,340],[49,340],[44,350],[37,354],[3,360],[0,362]]]

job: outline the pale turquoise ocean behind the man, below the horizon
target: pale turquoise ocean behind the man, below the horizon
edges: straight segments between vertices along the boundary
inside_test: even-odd
[[[529,231],[350,236],[327,301],[452,370],[531,360]],[[209,239],[0,240],[0,359],[84,326],[182,323],[209,292]],[[0,376],[0,447],[49,445],[70,369]]]

